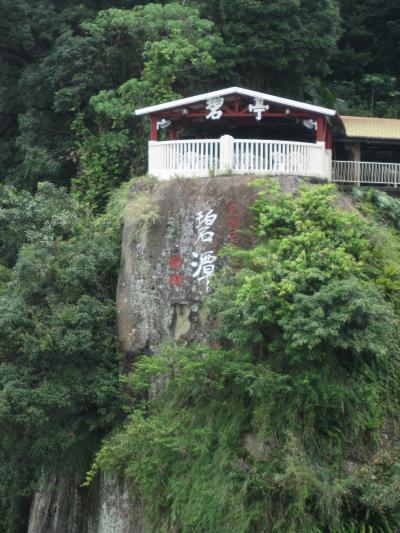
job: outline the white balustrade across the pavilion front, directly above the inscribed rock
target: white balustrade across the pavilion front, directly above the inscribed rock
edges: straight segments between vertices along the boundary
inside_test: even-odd
[[[330,179],[324,143],[221,139],[149,142],[149,173],[160,179],[217,174],[287,174]]]

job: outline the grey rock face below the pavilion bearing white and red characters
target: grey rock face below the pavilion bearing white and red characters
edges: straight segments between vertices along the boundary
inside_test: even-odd
[[[218,251],[246,245],[249,205],[256,198],[246,176],[182,179],[160,183],[153,192],[159,218],[145,243],[136,223],[126,220],[117,292],[118,331],[125,353],[152,352],[168,337],[204,335],[202,301]],[[134,218],[134,213],[133,213]]]

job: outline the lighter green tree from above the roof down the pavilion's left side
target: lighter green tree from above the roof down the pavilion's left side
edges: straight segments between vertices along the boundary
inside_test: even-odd
[[[76,196],[104,208],[109,191],[128,176],[143,174],[146,167],[148,125],[133,117],[133,109],[208,86],[222,68],[215,60],[222,40],[211,21],[176,3],[102,11],[84,29],[108,47],[113,43],[108,61],[114,53],[121,54],[116,42],[134,58],[130,78],[91,98],[90,127],[84,117],[74,122],[80,153],[73,180]]]

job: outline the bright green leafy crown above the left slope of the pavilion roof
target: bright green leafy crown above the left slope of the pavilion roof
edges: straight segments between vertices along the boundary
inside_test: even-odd
[[[136,52],[132,78],[142,76],[161,91],[160,99],[170,97],[170,87],[181,92],[188,84],[199,83],[199,76],[204,79],[210,68],[215,71],[213,49],[222,46],[214,24],[201,19],[195,8],[179,3],[109,9],[84,28],[90,35],[124,39],[125,46]]]

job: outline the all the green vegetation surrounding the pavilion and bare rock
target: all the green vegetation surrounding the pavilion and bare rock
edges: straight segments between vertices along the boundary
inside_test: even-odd
[[[260,197],[215,347],[142,359],[131,397],[115,331],[136,107],[235,84],[398,117],[399,54],[398,0],[0,0],[0,533],[115,427],[89,478],[125,470],[156,531],[400,530],[397,200]]]

